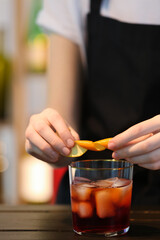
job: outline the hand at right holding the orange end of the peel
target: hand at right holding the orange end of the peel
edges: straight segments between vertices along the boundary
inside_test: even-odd
[[[138,123],[112,138],[112,157],[151,170],[160,169],[160,115]]]

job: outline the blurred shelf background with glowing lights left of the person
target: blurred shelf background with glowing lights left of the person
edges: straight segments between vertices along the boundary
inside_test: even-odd
[[[54,203],[54,170],[24,149],[32,114],[47,105],[49,39],[41,0],[0,0],[0,203]]]

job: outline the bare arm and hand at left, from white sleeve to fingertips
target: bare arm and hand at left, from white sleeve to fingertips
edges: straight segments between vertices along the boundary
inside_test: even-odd
[[[25,132],[26,151],[54,167],[69,163],[67,156],[79,139],[74,129],[80,112],[80,75],[78,46],[54,35],[48,68],[48,108],[31,116]]]

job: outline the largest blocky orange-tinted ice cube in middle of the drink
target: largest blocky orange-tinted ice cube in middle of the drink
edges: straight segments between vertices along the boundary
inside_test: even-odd
[[[112,203],[111,190],[112,188],[99,190],[95,194],[96,212],[99,218],[115,216],[115,208]]]

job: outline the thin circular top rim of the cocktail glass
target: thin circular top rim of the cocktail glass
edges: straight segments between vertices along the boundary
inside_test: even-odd
[[[97,167],[77,167],[74,166],[74,164],[76,163],[80,163],[80,162],[127,162],[129,164],[129,166],[124,166],[124,167],[101,167],[101,168],[97,168]],[[73,161],[69,164],[69,167],[74,168],[74,169],[80,169],[80,170],[87,170],[87,171],[95,171],[95,170],[123,170],[123,169],[127,169],[127,168],[132,168],[133,167],[133,163],[130,163],[124,159],[122,160],[116,160],[116,159],[88,159],[88,160],[78,160],[78,161]]]

